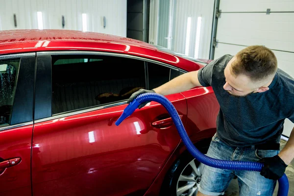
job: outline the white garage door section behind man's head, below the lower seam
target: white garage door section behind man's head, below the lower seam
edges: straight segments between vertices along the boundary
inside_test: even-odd
[[[222,55],[231,54],[235,55],[238,51],[245,49],[245,46],[236,46],[229,44],[218,43],[218,47],[215,49],[215,58],[220,58]],[[294,53],[292,52],[282,52],[272,50],[277,58],[278,67],[294,77]],[[290,136],[294,123],[286,119],[284,124],[283,135]]]

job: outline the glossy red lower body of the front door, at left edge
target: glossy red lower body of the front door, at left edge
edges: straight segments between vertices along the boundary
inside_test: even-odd
[[[0,131],[0,161],[21,158],[0,169],[0,195],[31,196],[30,154],[33,125]],[[7,165],[8,166],[8,165]]]

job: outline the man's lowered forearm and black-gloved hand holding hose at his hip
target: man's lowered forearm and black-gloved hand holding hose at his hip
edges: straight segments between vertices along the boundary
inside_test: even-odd
[[[278,180],[286,171],[287,166],[294,159],[294,127],[285,147],[278,155],[259,160],[264,164],[261,175],[272,180]]]

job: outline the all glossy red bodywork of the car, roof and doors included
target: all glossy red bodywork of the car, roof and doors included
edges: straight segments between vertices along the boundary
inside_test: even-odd
[[[70,30],[0,31],[0,55],[56,50],[128,54],[186,71],[203,67],[118,36]],[[193,143],[214,135],[219,105],[211,87],[167,98],[182,116]],[[162,105],[152,101],[116,126],[125,106],[57,115],[34,126],[0,131],[0,162],[9,160],[3,165],[10,166],[15,161],[0,169],[0,195],[157,196],[186,148]]]

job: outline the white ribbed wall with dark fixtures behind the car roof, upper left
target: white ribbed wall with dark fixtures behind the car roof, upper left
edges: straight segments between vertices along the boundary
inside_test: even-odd
[[[126,0],[0,0],[0,30],[37,29],[39,11],[43,29],[83,30],[82,14],[85,13],[87,31],[126,37]],[[13,14],[16,14],[17,27]]]

